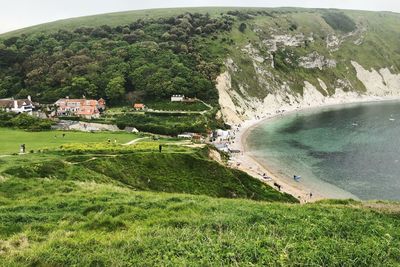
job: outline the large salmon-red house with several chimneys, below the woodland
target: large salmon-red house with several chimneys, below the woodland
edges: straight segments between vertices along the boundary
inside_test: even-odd
[[[80,116],[87,119],[99,118],[100,113],[106,108],[106,101],[102,98],[70,99],[69,97],[57,100],[57,116]]]

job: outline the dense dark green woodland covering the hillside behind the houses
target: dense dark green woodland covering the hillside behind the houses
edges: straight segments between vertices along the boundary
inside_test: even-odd
[[[232,24],[231,16],[186,13],[2,40],[0,98],[85,95],[118,105],[185,94],[213,102],[220,63],[201,41]]]

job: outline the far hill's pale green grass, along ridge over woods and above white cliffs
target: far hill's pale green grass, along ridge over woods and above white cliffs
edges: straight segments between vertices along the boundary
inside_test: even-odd
[[[226,57],[231,57],[235,64],[238,65],[239,71],[232,73],[233,87],[238,89],[243,86],[249,96],[264,98],[274,90],[279,90],[281,85],[288,82],[292,91],[302,93],[304,81],[311,82],[324,95],[326,92],[322,90],[317,78],[320,78],[328,85],[329,94],[334,93],[334,88],[340,86],[337,84],[338,79],[347,81],[351,87],[344,88],[345,90],[355,90],[362,92],[365,90],[363,84],[356,78],[356,73],[351,65],[351,60],[355,60],[363,67],[379,69],[382,67],[391,68],[393,72],[400,72],[400,15],[391,12],[367,12],[367,11],[352,11],[352,10],[326,10],[326,9],[300,9],[300,8],[235,8],[235,7],[218,7],[218,8],[178,8],[178,9],[154,9],[154,10],[139,10],[128,11],[111,14],[102,14],[89,17],[73,18],[58,22],[37,25],[19,31],[0,35],[0,38],[8,38],[21,33],[30,34],[41,31],[55,31],[58,29],[74,29],[79,26],[99,26],[108,24],[111,26],[129,24],[132,21],[140,18],[159,18],[174,16],[184,12],[208,12],[211,16],[218,16],[220,13],[241,10],[254,11],[264,10],[272,14],[272,16],[256,16],[249,20],[237,19],[236,24],[231,33],[224,33],[215,41],[207,44],[208,51],[212,54],[219,55],[221,60]],[[330,51],[326,46],[327,36],[335,34],[338,37],[343,37],[345,33],[339,30],[332,29],[323,16],[327,12],[342,12],[353,20],[359,29],[366,29],[365,33],[358,33],[355,36],[348,37],[341,44],[338,51]],[[245,22],[247,30],[245,33],[238,31],[239,24]],[[296,30],[290,30],[291,25],[296,25]],[[257,33],[254,31],[257,29]],[[293,48],[287,47],[281,52],[281,60],[285,62],[288,57],[293,57],[293,64],[286,64],[284,69],[271,68],[271,61],[266,60],[258,67],[264,69],[271,75],[257,74],[253,61],[242,51],[244,46],[249,42],[254,47],[260,50],[262,56],[268,57],[266,48],[261,45],[262,41],[269,39],[271,34],[304,34],[310,36],[313,34],[315,42],[310,43],[308,47]],[[361,45],[355,45],[354,42],[363,36]],[[233,43],[223,43],[222,38],[233,40]],[[307,70],[298,66],[298,59],[301,56],[308,55],[312,52],[318,52],[325,58],[334,59],[337,62],[337,67],[334,69],[312,69]],[[267,88],[271,85],[272,88]],[[238,90],[241,94],[240,90]]]

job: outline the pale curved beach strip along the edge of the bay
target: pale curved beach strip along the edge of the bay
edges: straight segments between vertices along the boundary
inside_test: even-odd
[[[254,178],[262,181],[265,184],[270,185],[271,187],[277,189],[275,186],[279,184],[281,186],[281,192],[290,194],[297,198],[300,203],[309,203],[309,202],[316,202],[323,199],[331,199],[328,197],[327,194],[320,192],[320,191],[312,191],[305,187],[301,182],[290,181],[288,177],[283,177],[282,175],[278,174],[279,170],[275,170],[268,166],[268,163],[260,162],[254,156],[251,155],[248,144],[247,138],[250,135],[251,131],[258,127],[260,124],[266,123],[270,120],[277,119],[278,117],[288,116],[291,114],[295,114],[296,112],[305,112],[310,110],[318,110],[321,108],[329,108],[329,107],[340,107],[346,106],[351,104],[367,104],[367,103],[379,103],[379,102],[390,102],[390,101],[399,101],[400,97],[359,97],[356,99],[342,99],[341,102],[337,103],[324,103],[318,104],[315,106],[290,106],[290,107],[282,107],[286,108],[285,111],[279,112],[276,110],[275,114],[265,115],[262,118],[253,118],[244,121],[240,124],[240,127],[234,127],[237,129],[235,131],[235,142],[229,145],[229,148],[240,150],[240,154],[232,155],[231,157],[231,164],[232,167],[239,169],[241,171],[246,172],[247,174],[253,176]],[[289,108],[289,109],[287,109]],[[267,174],[270,179],[264,179],[263,174]],[[322,180],[320,180],[323,182]],[[323,182],[326,183],[326,182]],[[326,183],[329,186],[334,186],[332,184]],[[336,187],[336,186],[334,186]],[[340,190],[343,190],[339,188]],[[345,190],[343,190],[345,191]],[[347,192],[347,191],[345,191]],[[310,193],[312,193],[312,197],[310,197]],[[349,192],[348,192],[349,193]],[[351,194],[351,193],[349,193]],[[338,197],[340,199],[340,197]],[[357,199],[357,197],[356,197]]]

